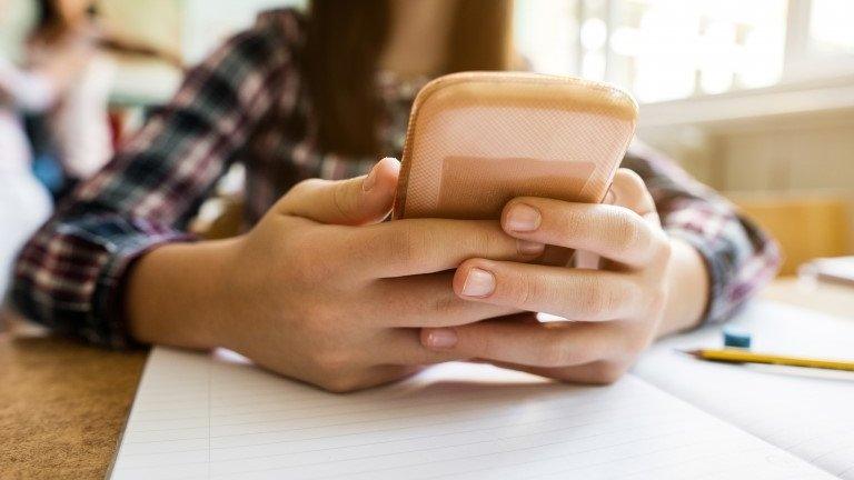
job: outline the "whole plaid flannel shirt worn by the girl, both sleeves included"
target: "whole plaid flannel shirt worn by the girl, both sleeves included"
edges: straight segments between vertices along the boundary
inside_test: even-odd
[[[12,290],[22,313],[93,343],[132,344],[121,307],[129,267],[157,246],[192,241],[189,219],[234,162],[247,168],[248,224],[289,184],[371,167],[376,159],[315,148],[299,68],[305,22],[292,10],[266,12],[189,72],[168,108],[23,248]],[[386,116],[378,131],[389,153],[401,151],[414,92],[380,82]],[[632,150],[623,166],[644,178],[669,234],[705,259],[712,286],[705,320],[728,318],[774,276],[775,243],[722,197],[652,151]]]

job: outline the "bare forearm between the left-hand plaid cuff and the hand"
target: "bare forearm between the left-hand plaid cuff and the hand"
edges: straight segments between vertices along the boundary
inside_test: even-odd
[[[168,243],[128,273],[123,307],[130,334],[143,343],[210,349],[220,346],[226,258],[236,240]]]

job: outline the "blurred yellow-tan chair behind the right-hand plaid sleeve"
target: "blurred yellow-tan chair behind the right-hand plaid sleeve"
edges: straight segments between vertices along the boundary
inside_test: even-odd
[[[843,193],[729,192],[727,197],[777,239],[785,257],[781,276],[795,274],[798,266],[817,257],[852,251],[850,197]]]

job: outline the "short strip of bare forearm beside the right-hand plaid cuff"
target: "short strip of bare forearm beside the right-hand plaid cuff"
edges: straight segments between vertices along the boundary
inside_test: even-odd
[[[658,337],[696,327],[706,310],[709,280],[699,252],[689,243],[671,240],[668,296]]]

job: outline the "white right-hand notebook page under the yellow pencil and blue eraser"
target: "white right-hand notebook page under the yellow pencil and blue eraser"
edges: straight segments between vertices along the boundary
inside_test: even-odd
[[[733,322],[753,350],[854,359],[854,318],[771,301]],[[658,342],[635,367],[644,380],[824,470],[854,480],[854,372],[701,361],[675,349],[718,348],[719,326]]]

